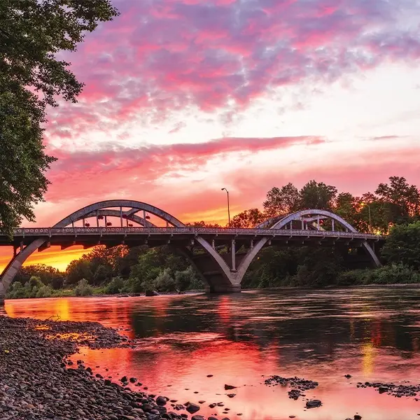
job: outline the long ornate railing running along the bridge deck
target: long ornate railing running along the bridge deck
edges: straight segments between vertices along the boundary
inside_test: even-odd
[[[228,235],[255,237],[349,237],[358,239],[382,239],[381,235],[360,232],[297,229],[236,229],[236,228],[20,228],[14,237],[52,237],[55,235]]]

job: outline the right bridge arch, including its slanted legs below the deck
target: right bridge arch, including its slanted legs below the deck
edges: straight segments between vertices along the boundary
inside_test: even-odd
[[[318,219],[318,216],[321,216],[323,218],[330,218],[332,221],[335,221],[342,225],[346,230],[353,233],[358,233],[356,228],[353,228],[350,223],[346,222],[344,218],[341,216],[338,216],[337,214],[332,213],[328,210],[320,210],[320,209],[308,209],[308,210],[300,210],[295,211],[295,213],[289,214],[288,216],[283,216],[282,218],[274,217],[269,218],[267,221],[264,221],[262,223],[259,223],[255,226],[255,229],[282,229],[285,228],[288,223],[291,223],[293,221],[301,221],[304,216],[316,216],[316,220]],[[309,220],[312,220],[310,217]],[[319,225],[318,225],[319,228]],[[251,262],[255,258],[255,256],[260,252],[263,246],[267,244],[269,241],[269,237],[263,237],[258,241],[253,248],[251,248],[248,253],[246,253],[245,258],[241,261],[241,264],[238,267],[237,273],[235,274],[235,281],[237,283],[241,283],[242,279],[244,278],[244,275],[246,273],[246,270],[248,269],[249,265],[251,265]],[[372,258],[372,261],[374,262],[374,265],[377,267],[381,267],[381,262],[379,261],[379,258],[377,257],[376,253],[374,253],[374,250],[372,249],[372,246],[367,243],[367,241],[363,241],[363,247],[367,251],[367,253],[370,255],[370,258]]]

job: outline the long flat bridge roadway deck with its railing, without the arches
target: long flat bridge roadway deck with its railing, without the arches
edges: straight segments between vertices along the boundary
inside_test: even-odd
[[[360,232],[342,232],[327,230],[290,230],[290,229],[235,229],[235,228],[20,228],[16,229],[13,239],[0,235],[0,245],[24,246],[31,244],[36,238],[44,238],[46,246],[59,245],[66,248],[71,245],[94,246],[97,244],[127,244],[136,246],[151,243],[153,245],[168,244],[171,242],[185,242],[191,245],[195,237],[204,237],[217,244],[229,244],[232,239],[238,244],[250,244],[251,241],[268,237],[274,242],[316,241],[331,244],[337,240],[346,243],[354,241],[360,246],[363,241],[383,241],[384,237]],[[238,248],[237,248],[238,249]]]

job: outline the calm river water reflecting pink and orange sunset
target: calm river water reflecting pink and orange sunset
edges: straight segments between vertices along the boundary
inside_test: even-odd
[[[358,381],[420,383],[420,289],[8,300],[6,312],[130,328],[125,334],[139,339],[136,349],[81,349],[76,358],[104,376],[137,377],[149,393],[205,400],[198,414],[231,420],[344,420],[356,412],[364,420],[420,418],[420,401],[356,388]],[[304,400],[288,398],[287,388],[262,384],[262,375],[271,374],[318,381],[307,396],[321,399],[323,407],[306,411]],[[239,388],[225,391],[224,384]],[[230,392],[235,398],[225,395]],[[224,402],[230,414],[209,409],[211,402]]]

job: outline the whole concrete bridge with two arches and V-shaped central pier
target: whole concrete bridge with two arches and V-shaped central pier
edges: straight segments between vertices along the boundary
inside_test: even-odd
[[[148,221],[146,213],[160,218],[166,227],[160,228]],[[110,228],[108,218],[118,218],[120,226]],[[90,227],[86,222],[90,219],[96,226]],[[75,227],[80,221],[83,228]],[[0,235],[0,246],[13,246],[15,250],[1,276],[0,299],[29,255],[51,245],[64,249],[73,245],[89,248],[98,244],[170,244],[186,255],[209,291],[235,292],[241,288],[246,269],[265,246],[336,246],[347,254],[349,249],[356,249],[358,255],[364,253],[379,266],[375,244],[380,246],[383,241],[379,235],[357,232],[344,219],[325,210],[297,211],[286,217],[271,218],[252,229],[194,228],[151,204],[109,200],[75,211],[52,228],[17,229],[13,239]]]

